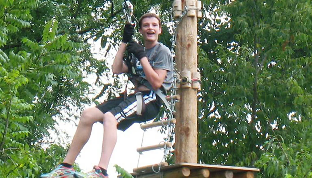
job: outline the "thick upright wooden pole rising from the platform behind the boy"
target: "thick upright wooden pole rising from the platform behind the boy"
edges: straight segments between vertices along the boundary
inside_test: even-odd
[[[197,1],[182,0],[182,9],[193,2]],[[178,71],[197,72],[196,14],[185,15],[178,25],[175,49]],[[178,91],[181,100],[176,105],[175,162],[197,163],[197,89],[182,87]]]

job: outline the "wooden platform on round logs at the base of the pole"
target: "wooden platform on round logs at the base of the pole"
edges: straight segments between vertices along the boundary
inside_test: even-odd
[[[161,167],[159,173],[151,169],[134,172],[134,178],[254,178],[257,168],[234,167],[195,163],[177,163]]]

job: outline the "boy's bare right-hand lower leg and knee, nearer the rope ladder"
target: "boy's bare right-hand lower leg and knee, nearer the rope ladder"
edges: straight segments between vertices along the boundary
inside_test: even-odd
[[[106,112],[104,114],[103,144],[99,166],[106,170],[117,141],[117,124],[118,122],[116,121],[115,116],[111,112]]]

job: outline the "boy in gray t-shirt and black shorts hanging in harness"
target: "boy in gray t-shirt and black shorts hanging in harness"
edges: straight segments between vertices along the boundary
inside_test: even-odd
[[[114,74],[129,74],[136,93],[127,98],[110,99],[83,111],[64,161],[41,178],[108,178],[106,170],[117,141],[117,129],[124,131],[134,122],[149,121],[157,116],[162,104],[160,93],[170,89],[173,81],[173,58],[169,48],[158,43],[162,29],[156,14],[146,13],[140,18],[139,32],[143,35],[145,49],[131,41],[134,27],[127,23],[112,65]],[[128,62],[123,61],[126,50],[132,54]],[[88,141],[95,122],[103,123],[104,127],[100,162],[86,174],[76,172],[72,164]]]

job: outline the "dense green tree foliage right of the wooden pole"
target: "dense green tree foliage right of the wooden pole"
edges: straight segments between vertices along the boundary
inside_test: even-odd
[[[256,166],[259,177],[311,176],[311,7],[300,0],[206,2],[200,162]]]

